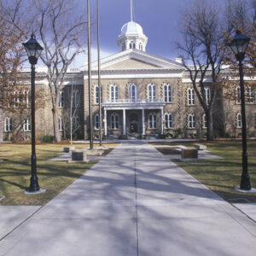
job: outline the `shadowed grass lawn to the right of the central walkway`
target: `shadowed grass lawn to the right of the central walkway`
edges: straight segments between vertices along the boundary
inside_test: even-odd
[[[170,143],[169,143],[170,144]],[[179,143],[181,144],[181,143]],[[198,143],[182,143],[184,146],[193,146]],[[223,160],[201,160],[198,162],[176,161],[186,172],[196,177],[201,183],[207,185],[218,195],[230,202],[243,202],[244,199],[256,202],[256,194],[247,194],[236,191],[234,188],[240,185],[241,181],[241,141],[224,142],[214,141],[207,144],[207,149],[212,154],[223,157]],[[256,188],[256,142],[247,142],[248,172],[251,185]],[[239,200],[236,200],[239,199]]]

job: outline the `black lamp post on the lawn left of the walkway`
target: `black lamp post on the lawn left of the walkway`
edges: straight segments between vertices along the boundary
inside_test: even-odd
[[[38,44],[36,37],[32,34],[31,38],[23,43],[31,64],[31,140],[32,140],[32,156],[31,156],[31,179],[29,192],[37,192],[40,190],[37,177],[37,156],[36,156],[36,140],[35,140],[35,65],[38,63],[38,57],[43,47]]]

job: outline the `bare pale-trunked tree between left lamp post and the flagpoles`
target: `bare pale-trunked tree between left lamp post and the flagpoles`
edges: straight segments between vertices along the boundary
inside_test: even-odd
[[[39,35],[44,52],[41,60],[48,67],[47,79],[51,94],[55,141],[60,142],[59,101],[67,68],[76,55],[84,52],[84,15],[68,0],[34,0],[38,8]],[[74,12],[76,15],[74,15]]]

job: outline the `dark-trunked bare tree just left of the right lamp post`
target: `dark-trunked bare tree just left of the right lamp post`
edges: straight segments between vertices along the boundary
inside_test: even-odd
[[[225,53],[219,10],[207,1],[195,1],[184,11],[182,26],[183,42],[177,43],[177,48],[182,52],[184,67],[189,72],[195,94],[206,113],[207,140],[212,140],[212,108]],[[210,86],[205,83],[209,77],[212,80]],[[211,91],[209,101],[207,88]]]

